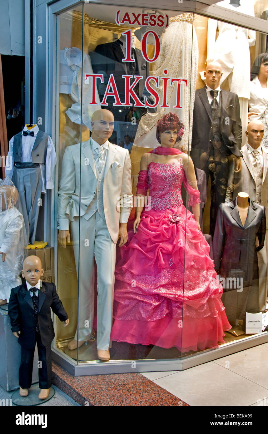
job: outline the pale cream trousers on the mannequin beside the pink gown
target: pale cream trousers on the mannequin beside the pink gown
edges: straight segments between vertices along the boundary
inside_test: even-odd
[[[88,340],[93,331],[95,257],[98,292],[97,348],[108,350],[112,326],[116,244],[111,240],[106,222],[98,211],[89,220],[85,220],[83,217],[75,217],[75,220],[71,221],[71,233],[79,282],[79,336],[77,339],[76,332],[75,339],[79,341]]]

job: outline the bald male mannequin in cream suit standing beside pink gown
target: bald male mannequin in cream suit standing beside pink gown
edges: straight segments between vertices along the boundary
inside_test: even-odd
[[[76,334],[68,347],[75,349],[92,335],[95,257],[97,349],[100,360],[110,358],[116,243],[119,237],[119,247],[127,241],[126,224],[132,209],[129,151],[108,141],[113,125],[113,115],[109,110],[101,109],[93,113],[91,138],[81,147],[81,165],[80,144],[66,148],[58,198],[58,241],[63,247],[66,247],[66,239],[70,241],[70,221],[79,275],[79,336]],[[123,197],[123,203],[122,200],[120,203],[120,197]]]

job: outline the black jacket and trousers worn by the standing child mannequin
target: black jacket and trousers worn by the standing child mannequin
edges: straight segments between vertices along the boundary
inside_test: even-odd
[[[41,282],[41,281],[40,281]],[[54,283],[42,283],[38,291],[38,326],[40,334],[35,331],[35,315],[30,291],[26,283],[11,289],[8,304],[12,332],[20,331],[18,342],[21,345],[21,363],[19,370],[20,387],[30,388],[33,372],[33,355],[37,343],[39,360],[39,386],[48,389],[52,384],[51,342],[55,336],[52,311],[60,321],[66,321],[68,315],[56,293]]]

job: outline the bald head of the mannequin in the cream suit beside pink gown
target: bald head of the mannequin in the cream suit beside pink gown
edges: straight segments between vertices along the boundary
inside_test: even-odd
[[[106,109],[96,110],[92,115],[91,137],[99,145],[103,145],[113,132],[114,118],[112,112]]]

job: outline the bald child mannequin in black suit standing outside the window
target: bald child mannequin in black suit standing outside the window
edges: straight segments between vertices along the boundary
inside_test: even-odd
[[[68,315],[56,293],[54,283],[42,283],[44,269],[40,258],[28,256],[23,262],[22,276],[26,283],[11,289],[8,315],[13,335],[21,345],[21,362],[19,369],[20,395],[27,396],[32,382],[33,355],[37,344],[39,357],[39,399],[47,398],[52,384],[51,342],[55,336],[50,308],[69,324]],[[31,288],[37,288],[34,291]],[[34,306],[36,306],[36,311]],[[38,312],[37,312],[38,310]],[[40,363],[41,362],[41,363]]]

